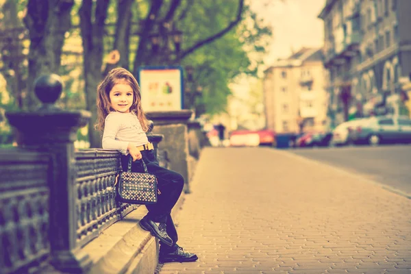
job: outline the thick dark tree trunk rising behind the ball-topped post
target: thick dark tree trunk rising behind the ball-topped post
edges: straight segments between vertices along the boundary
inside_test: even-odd
[[[45,73],[58,73],[64,35],[71,27],[74,0],[29,0],[25,25],[29,29],[29,76],[27,105],[34,108],[34,80]]]

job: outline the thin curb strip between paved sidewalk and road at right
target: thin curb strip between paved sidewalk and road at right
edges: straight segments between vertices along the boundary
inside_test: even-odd
[[[270,149],[270,150],[273,151],[272,149]],[[319,160],[313,160],[313,159],[310,159],[310,158],[306,158],[304,156],[297,155],[295,153],[291,153],[291,152],[288,152],[288,151],[284,151],[282,149],[275,149],[275,151],[277,153],[281,153],[283,155],[286,155],[290,158],[295,158],[295,159],[300,160],[300,161],[310,162],[312,164],[316,164],[317,166],[325,166],[328,169],[332,169],[333,171],[336,171],[338,173],[342,173],[343,175],[349,175],[350,177],[352,177],[354,179],[360,180],[360,181],[365,182],[367,184],[374,184],[375,186],[379,186],[380,188],[383,188],[384,190],[388,190],[388,191],[393,192],[397,195],[401,195],[402,197],[406,197],[408,199],[411,199],[411,194],[408,194],[407,192],[403,192],[402,190],[399,190],[397,188],[393,188],[392,186],[387,186],[385,184],[376,182],[372,179],[366,179],[366,178],[362,177],[362,175],[359,175],[359,174],[356,174],[356,173],[350,173],[349,171],[347,171],[347,170],[345,170],[341,167],[334,166],[332,164],[327,164],[327,163],[321,162]]]

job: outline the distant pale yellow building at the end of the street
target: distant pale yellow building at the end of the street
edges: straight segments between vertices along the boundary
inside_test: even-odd
[[[321,49],[302,48],[264,71],[266,128],[277,133],[323,131],[327,92]]]

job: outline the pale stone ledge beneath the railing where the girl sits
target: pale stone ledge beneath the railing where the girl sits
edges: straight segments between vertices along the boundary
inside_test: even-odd
[[[139,206],[83,247],[93,263],[90,273],[125,273],[130,266],[138,266],[141,273],[155,271],[158,264],[157,241],[138,225],[145,214],[145,206]]]

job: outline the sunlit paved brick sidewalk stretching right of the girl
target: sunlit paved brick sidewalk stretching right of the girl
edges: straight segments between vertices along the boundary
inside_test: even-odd
[[[411,273],[411,199],[286,151],[206,148],[171,273]]]

